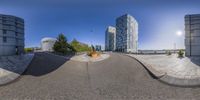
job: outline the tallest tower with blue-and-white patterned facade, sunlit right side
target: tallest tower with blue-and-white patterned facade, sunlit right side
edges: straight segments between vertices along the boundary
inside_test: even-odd
[[[138,51],[138,23],[129,14],[116,19],[116,50],[132,53]]]

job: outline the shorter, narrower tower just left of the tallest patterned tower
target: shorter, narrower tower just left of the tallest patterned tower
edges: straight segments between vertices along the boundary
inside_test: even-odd
[[[106,51],[115,51],[116,47],[116,28],[113,26],[109,26],[106,29],[105,34],[105,50]]]

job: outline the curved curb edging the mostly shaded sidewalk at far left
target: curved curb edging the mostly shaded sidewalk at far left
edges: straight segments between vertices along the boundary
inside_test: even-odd
[[[13,81],[17,80],[18,78],[20,78],[20,76],[27,70],[29,64],[32,62],[34,57],[35,57],[35,54],[33,54],[31,60],[27,63],[27,65],[25,65],[26,67],[20,73],[10,72],[9,74],[1,77],[0,78],[0,86],[4,86],[4,85],[7,85],[7,84],[10,84]]]

